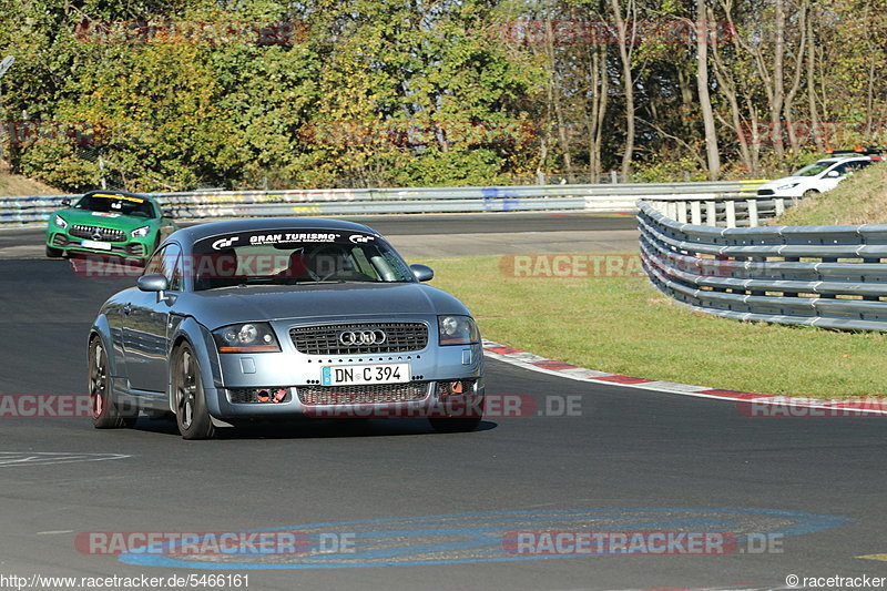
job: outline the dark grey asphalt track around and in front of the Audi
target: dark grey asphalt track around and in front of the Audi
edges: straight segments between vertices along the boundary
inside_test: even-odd
[[[431,234],[463,227],[440,223]],[[49,259],[0,261],[0,395],[85,391],[89,324],[131,281],[79,278]],[[789,574],[887,577],[887,562],[858,558],[887,553],[884,419],[747,418],[732,403],[492,360],[488,393],[521,395],[524,416],[460,435],[420,419],[343,420],[212,441],[149,418],[99,431],[83,418],[3,417],[0,575],[246,574],[239,588],[254,590],[781,589]],[[272,528],[346,551],[176,559],[77,543],[95,531]],[[541,543],[543,532],[657,531],[725,532],[735,544],[724,556],[570,556]],[[517,552],[516,532],[538,534],[541,553]]]

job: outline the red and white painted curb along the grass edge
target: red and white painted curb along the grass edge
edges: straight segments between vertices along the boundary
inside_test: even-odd
[[[792,409],[824,409],[829,412],[810,414],[810,416],[857,416],[857,415],[884,415],[887,416],[887,398],[856,398],[847,400],[830,400],[822,398],[803,398],[789,396],[776,396],[772,394],[756,394],[750,391],[723,390],[720,388],[708,388],[705,386],[691,386],[690,384],[677,384],[675,381],[663,381],[659,379],[636,378],[620,374],[609,374],[606,371],[595,371],[575,365],[547,359],[539,355],[516,349],[492,340],[483,340],[485,355],[492,359],[507,364],[560,376],[578,381],[594,381],[598,384],[610,384],[626,388],[639,388],[642,390],[654,390],[680,396],[694,396],[697,398],[713,398],[716,400],[732,400],[734,403],[747,403],[750,405],[762,405],[765,407],[785,407]],[[773,416],[778,416],[773,412]]]

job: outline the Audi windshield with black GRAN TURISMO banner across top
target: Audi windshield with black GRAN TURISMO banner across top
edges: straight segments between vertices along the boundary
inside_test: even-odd
[[[378,236],[304,228],[204,238],[194,244],[192,273],[196,292],[244,285],[416,281]]]

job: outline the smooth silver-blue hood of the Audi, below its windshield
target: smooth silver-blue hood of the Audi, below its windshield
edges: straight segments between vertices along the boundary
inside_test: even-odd
[[[181,294],[179,298],[176,312],[194,316],[210,329],[257,320],[469,314],[451,295],[418,283],[228,287]]]

